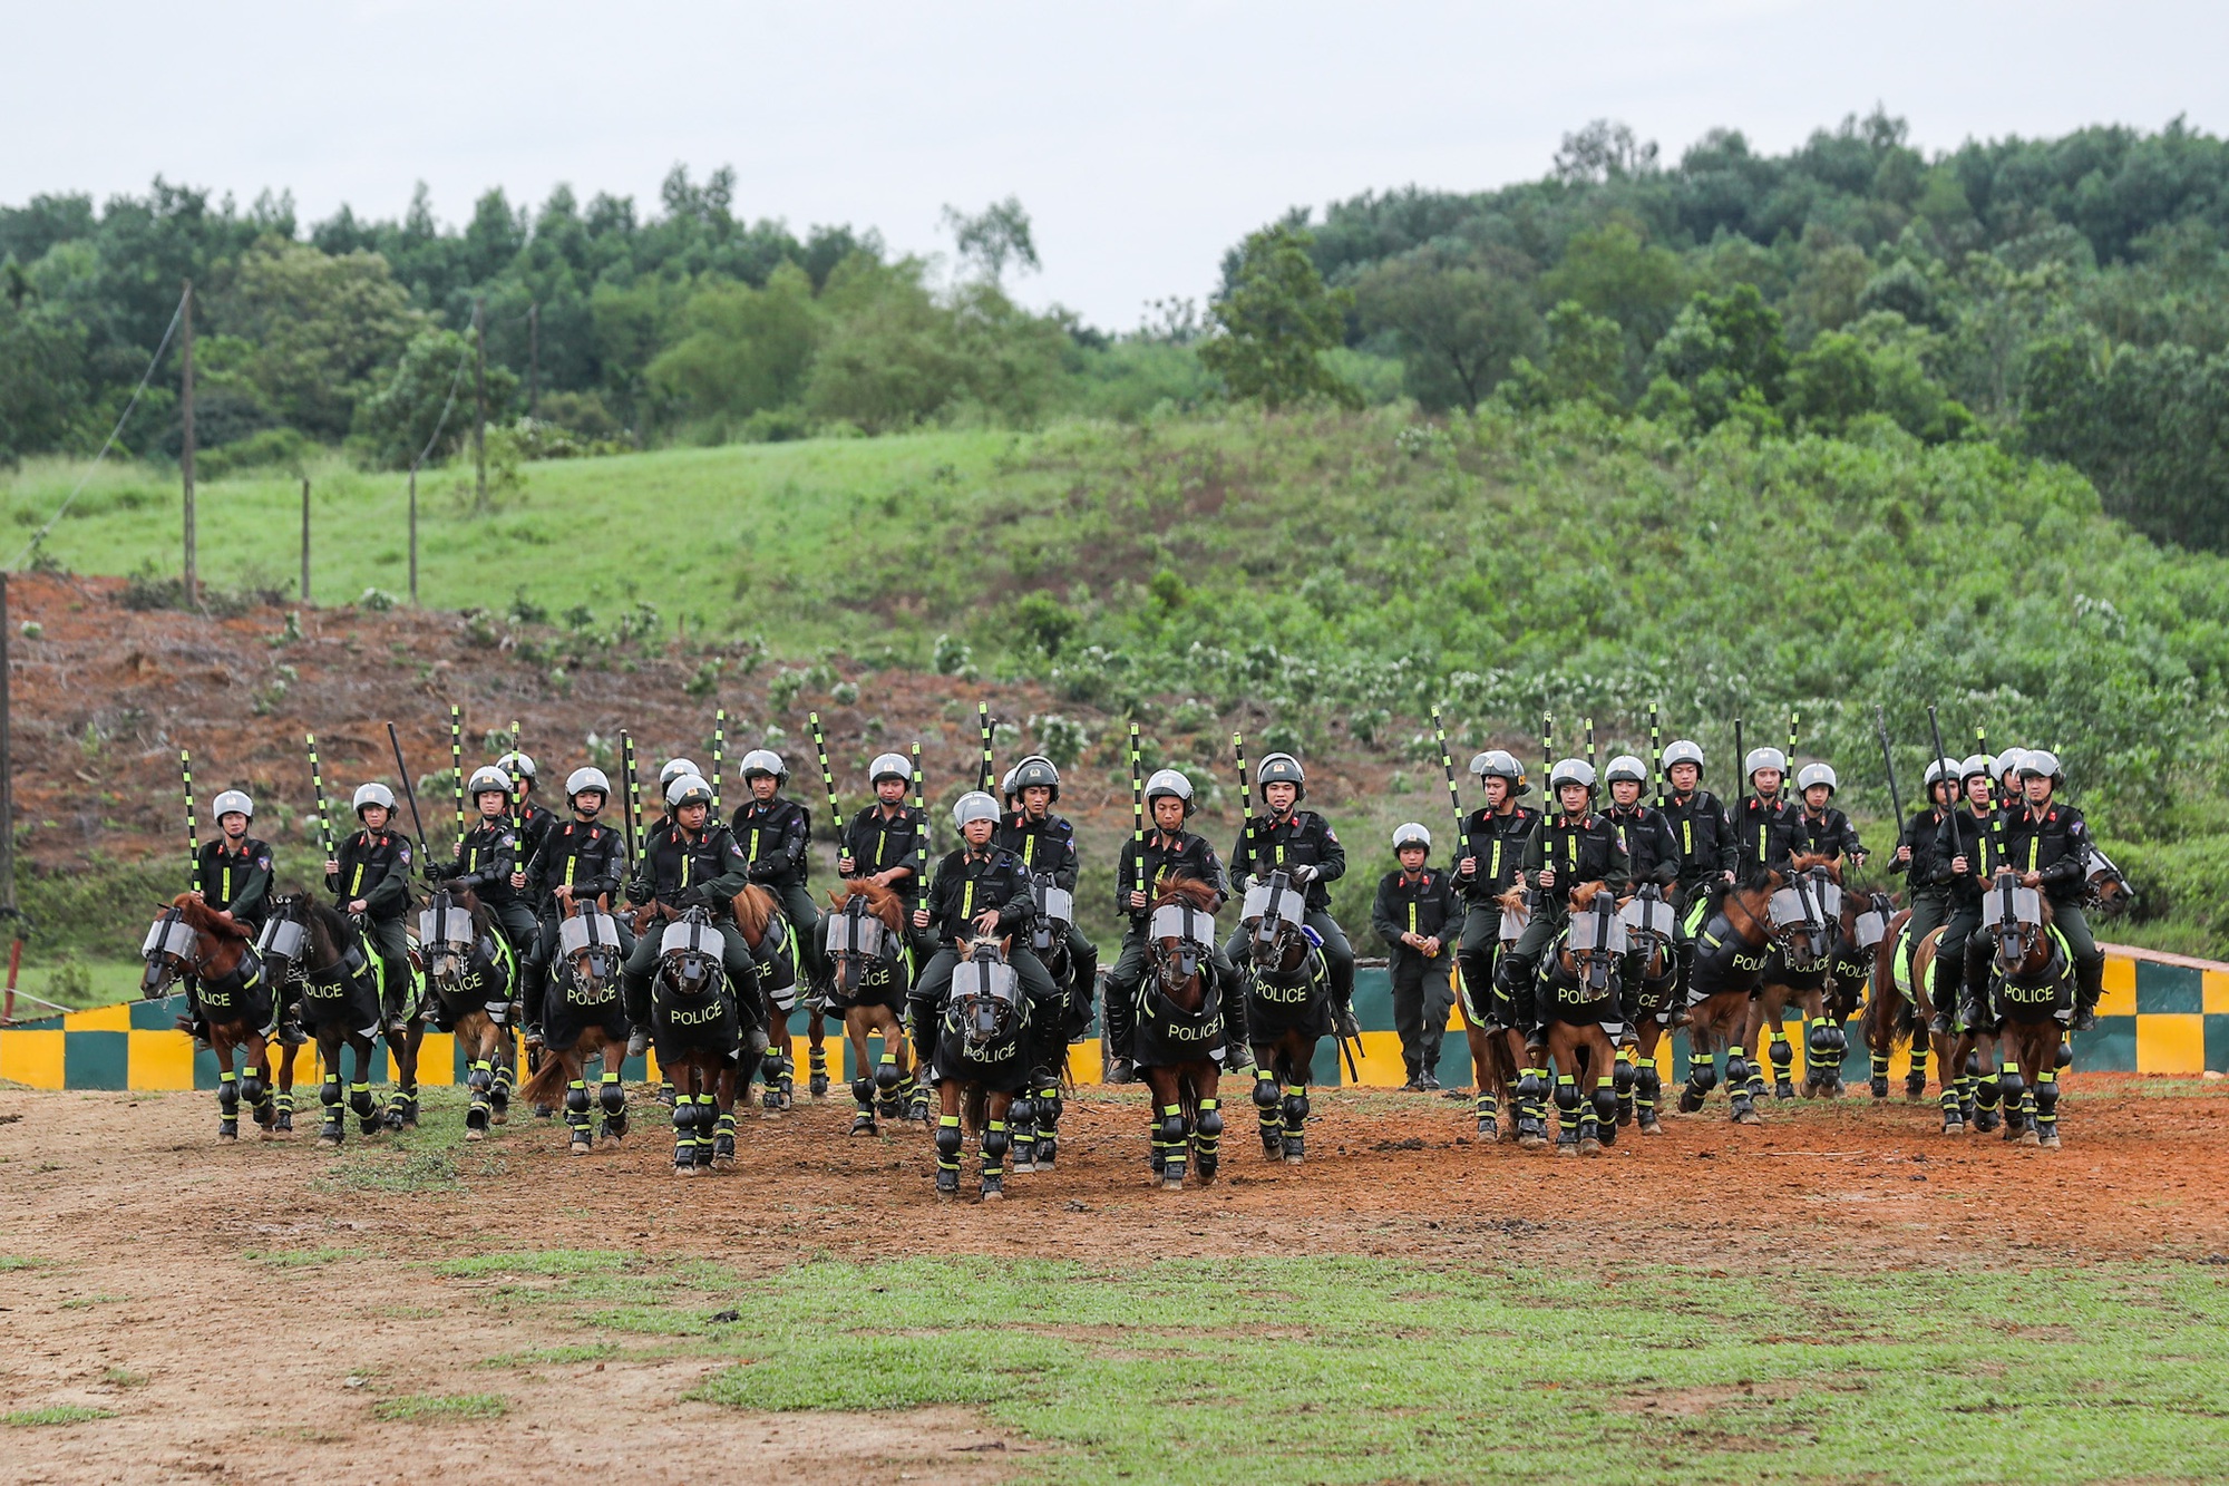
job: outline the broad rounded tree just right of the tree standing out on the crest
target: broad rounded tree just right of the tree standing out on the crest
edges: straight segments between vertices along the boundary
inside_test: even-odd
[[[1409,395],[1427,408],[1476,408],[1540,339],[1522,283],[1480,261],[1420,248],[1355,286],[1364,330],[1391,330]]]

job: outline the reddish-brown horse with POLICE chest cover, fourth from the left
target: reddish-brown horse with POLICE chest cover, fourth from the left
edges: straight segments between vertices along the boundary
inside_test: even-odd
[[[617,1145],[626,1138],[626,1087],[620,1082],[620,1069],[633,1029],[620,995],[617,921],[597,904],[573,899],[557,930],[542,1015],[542,1067],[519,1089],[519,1098],[531,1104],[557,1104],[562,1093],[571,1149],[575,1156],[586,1156],[595,1149],[588,1120],[591,1058],[604,1062],[604,1078],[597,1084],[604,1140]]]

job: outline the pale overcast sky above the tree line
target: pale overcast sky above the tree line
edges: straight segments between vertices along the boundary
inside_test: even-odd
[[[1886,103],[1921,147],[2095,120],[2229,125],[2222,4],[1175,2],[820,7],[323,0],[16,4],[0,203],[36,192],[288,187],[303,221],[444,221],[566,181],[655,208],[731,163],[738,210],[945,248],[938,210],[1016,194],[1023,299],[1108,328],[1204,297],[1224,248],[1295,203],[1476,190],[1609,116],[1678,152],[1768,149]]]

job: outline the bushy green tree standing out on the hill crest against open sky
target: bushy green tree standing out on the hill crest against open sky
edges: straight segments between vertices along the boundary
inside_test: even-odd
[[[1308,259],[1313,241],[1291,223],[1253,232],[1230,288],[1208,306],[1215,335],[1201,341],[1199,361],[1233,397],[1259,397],[1271,411],[1311,397],[1362,404],[1324,366],[1324,353],[1342,344],[1353,292],[1324,288]]]

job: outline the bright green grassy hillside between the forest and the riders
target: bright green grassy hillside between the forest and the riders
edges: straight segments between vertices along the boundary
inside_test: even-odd
[[[27,464],[0,486],[18,529],[69,480]],[[399,591],[399,482],[325,469],[314,489],[319,598]],[[649,600],[693,640],[765,634],[785,658],[892,647],[1143,716],[1170,759],[1219,759],[1244,714],[1304,754],[1389,750],[1429,790],[1371,817],[1444,814],[1418,739],[1433,703],[1458,754],[1531,736],[1542,712],[1558,752],[1585,714],[1605,750],[1641,745],[1661,703],[1667,736],[1719,761],[1734,716],[1779,743],[1797,712],[1843,803],[1886,819],[1872,710],[1910,805],[1937,701],[1953,752],[1982,725],[2069,761],[2073,799],[2171,915],[2164,944],[2229,942],[2211,890],[2229,870],[2229,562],[2153,547],[2080,475],[1988,444],[1886,424],[1687,442],[1585,411],[1233,415],[526,464],[484,520],[468,473],[421,480],[421,500],[428,605],[524,591],[611,627]],[[290,582],[296,502],[283,480],[210,484],[212,580]],[[167,567],[176,504],[140,466],[103,471],[47,553]]]

